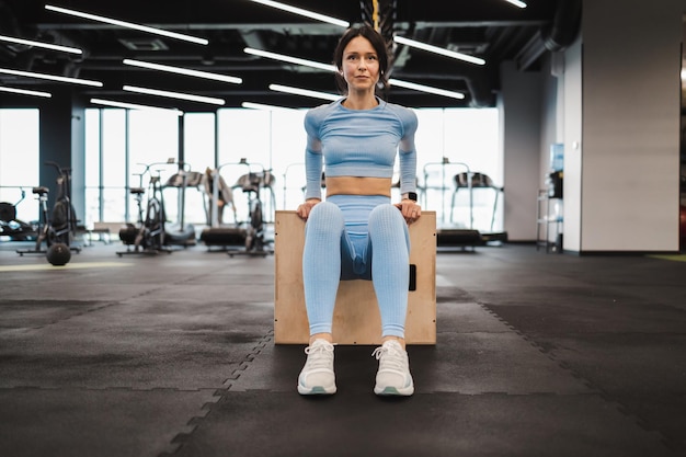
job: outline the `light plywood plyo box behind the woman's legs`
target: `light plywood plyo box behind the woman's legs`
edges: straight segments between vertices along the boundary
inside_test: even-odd
[[[309,324],[302,287],[305,221],[294,210],[275,217],[274,342],[307,344]],[[410,265],[415,289],[409,292],[405,342],[436,344],[436,213],[422,212],[410,225]],[[322,255],[327,255],[322,252]],[[341,281],[333,313],[338,344],[378,345],[381,318],[371,281]]]

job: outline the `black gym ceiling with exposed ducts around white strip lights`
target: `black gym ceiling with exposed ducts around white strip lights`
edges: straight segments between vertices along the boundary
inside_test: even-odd
[[[284,0],[300,9],[346,21],[375,23],[392,47],[390,77],[459,92],[464,99],[392,85],[387,99],[412,107],[494,106],[500,66],[514,61],[521,71],[539,69],[549,52],[562,50],[576,36],[581,0]],[[126,26],[75,16],[67,9],[161,28],[207,41],[191,43]],[[344,27],[252,0],[0,0],[0,36],[21,37],[82,49],[73,54],[0,39],[0,87],[66,91],[90,100],[106,99],[183,111],[214,111],[253,102],[310,107],[325,100],[270,89],[271,84],[335,93],[333,73],[248,54],[259,49],[331,64]],[[409,38],[485,60],[472,64],[393,42]],[[239,78],[241,83],[125,65],[124,59]],[[3,73],[3,70],[10,70]],[[71,84],[18,73],[24,71],[79,78],[102,87]],[[149,88],[220,99],[206,104],[139,94],[124,87]],[[31,106],[28,95],[0,92],[0,106]]]

